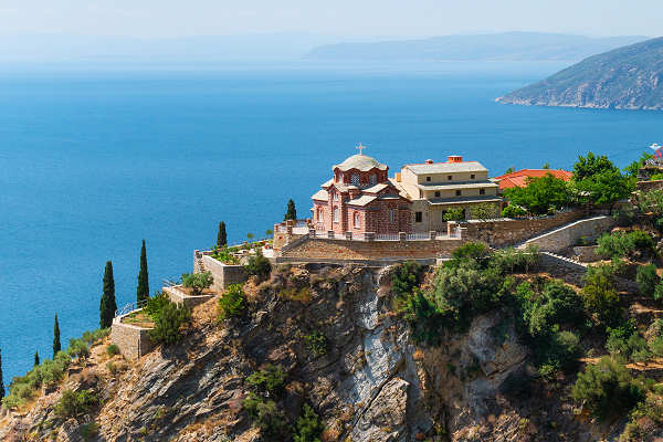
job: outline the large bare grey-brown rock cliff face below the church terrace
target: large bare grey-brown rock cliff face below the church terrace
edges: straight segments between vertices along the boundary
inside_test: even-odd
[[[588,440],[559,398],[527,387],[528,352],[507,317],[476,317],[466,333],[418,349],[408,326],[389,312],[389,282],[388,269],[276,274],[252,293],[260,308],[244,320],[219,325],[210,302],[197,307],[196,324],[178,346],[157,349],[122,373],[110,375],[99,360],[85,376],[71,376],[65,388],[101,397],[91,415],[59,421],[52,409],[60,389],[28,415],[11,417],[0,439],[77,441],[82,424],[95,421],[98,434],[91,440],[98,441],[266,441],[243,409],[244,380],[272,362],[288,372],[280,401],[286,417],[294,421],[311,403],[325,422],[325,441],[544,441],[561,440],[562,429],[585,438],[564,440]],[[286,286],[304,291],[295,301]],[[324,356],[304,344],[314,330],[330,339]],[[557,429],[536,427],[534,415],[555,420]]]

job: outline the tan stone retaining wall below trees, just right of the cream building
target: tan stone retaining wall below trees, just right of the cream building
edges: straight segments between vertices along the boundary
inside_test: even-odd
[[[467,240],[480,240],[494,246],[505,246],[516,245],[541,232],[573,222],[583,215],[585,211],[582,210],[570,210],[551,217],[523,219],[506,218],[486,221],[470,220],[460,222],[459,224],[467,229],[465,233]]]

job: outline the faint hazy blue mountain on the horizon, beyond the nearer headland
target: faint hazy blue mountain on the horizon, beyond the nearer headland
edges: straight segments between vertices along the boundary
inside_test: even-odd
[[[315,48],[314,60],[554,61],[582,60],[646,36],[590,38],[536,32],[446,35],[423,40],[340,43]]]

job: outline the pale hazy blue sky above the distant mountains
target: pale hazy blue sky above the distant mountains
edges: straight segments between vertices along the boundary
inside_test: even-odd
[[[1,0],[0,33],[143,38],[313,32],[663,34],[661,0]]]

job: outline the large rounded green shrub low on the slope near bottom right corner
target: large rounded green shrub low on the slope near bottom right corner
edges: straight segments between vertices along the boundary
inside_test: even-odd
[[[642,380],[634,379],[623,365],[609,357],[597,365],[589,364],[571,389],[573,399],[601,420],[629,412],[644,399],[644,393]]]

